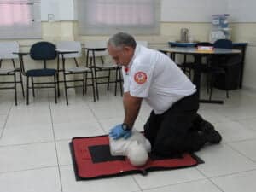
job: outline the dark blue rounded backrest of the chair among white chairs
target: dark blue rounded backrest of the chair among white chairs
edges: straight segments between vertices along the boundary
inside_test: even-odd
[[[33,60],[54,60],[56,58],[55,44],[49,42],[38,42],[30,49],[30,56]]]

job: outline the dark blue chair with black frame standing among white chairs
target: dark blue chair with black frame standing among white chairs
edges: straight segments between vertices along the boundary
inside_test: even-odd
[[[20,67],[21,72],[26,76],[26,104],[29,104],[29,89],[32,89],[32,94],[35,96],[35,89],[54,88],[55,90],[55,103],[57,103],[57,70],[55,68],[48,68],[46,61],[55,60],[55,44],[49,42],[38,42],[33,44],[29,55],[35,61],[43,61],[44,67],[37,69],[25,70],[22,53],[20,54]],[[38,63],[38,62],[37,62]],[[34,82],[35,78],[52,77],[52,81]],[[32,85],[29,85],[29,79],[32,80]],[[41,85],[42,84],[42,85]],[[49,84],[49,85],[48,85]]]

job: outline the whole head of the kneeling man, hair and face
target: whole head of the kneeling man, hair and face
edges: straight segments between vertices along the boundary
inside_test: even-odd
[[[135,39],[125,32],[114,34],[108,40],[108,54],[116,64],[127,67],[136,49]]]

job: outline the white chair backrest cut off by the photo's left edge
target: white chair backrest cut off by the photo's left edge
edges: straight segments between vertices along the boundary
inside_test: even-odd
[[[0,59],[17,59],[18,55],[13,54],[19,52],[19,44],[15,41],[0,42]]]

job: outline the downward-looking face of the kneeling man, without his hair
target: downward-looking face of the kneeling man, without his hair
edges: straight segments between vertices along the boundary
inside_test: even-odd
[[[128,66],[134,54],[134,49],[129,46],[120,48],[108,45],[108,54],[111,55],[117,65]]]

